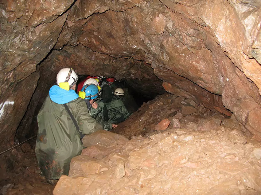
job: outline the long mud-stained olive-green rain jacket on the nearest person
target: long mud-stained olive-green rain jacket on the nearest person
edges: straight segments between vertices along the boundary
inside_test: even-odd
[[[61,101],[59,103],[52,101],[51,89],[37,116],[39,130],[35,153],[45,178],[59,179],[61,175],[68,175],[70,162],[81,153],[83,145],[80,133],[63,105],[66,101],[61,101],[64,96],[56,100],[53,98],[54,101]],[[75,93],[73,90],[69,91],[71,94]],[[74,94],[73,96],[73,100],[66,105],[80,127],[80,132],[91,134],[103,129],[89,114],[85,101]]]

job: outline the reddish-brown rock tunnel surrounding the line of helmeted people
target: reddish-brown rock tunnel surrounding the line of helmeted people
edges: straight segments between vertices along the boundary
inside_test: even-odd
[[[260,7],[2,2],[0,194],[260,194]],[[50,185],[35,156],[37,115],[66,67],[78,83],[114,77],[132,114],[86,135]]]

